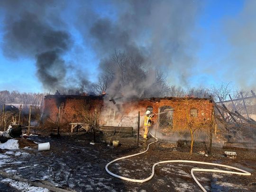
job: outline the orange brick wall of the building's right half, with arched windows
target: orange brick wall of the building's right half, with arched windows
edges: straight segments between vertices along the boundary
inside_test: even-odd
[[[186,109],[188,110],[189,122],[193,122],[194,127],[209,124],[211,121],[213,105],[208,99],[198,98],[169,98],[158,100],[139,100],[123,104],[124,113],[126,115],[135,111],[140,111],[141,116],[145,116],[146,107],[152,106],[153,113],[159,113],[159,108],[163,106],[171,106],[173,111],[173,128],[180,129],[187,127]],[[197,117],[191,117],[190,109],[197,109]],[[156,121],[158,116],[153,117]]]

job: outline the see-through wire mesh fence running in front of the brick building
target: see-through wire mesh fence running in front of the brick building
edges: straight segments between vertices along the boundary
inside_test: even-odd
[[[191,139],[196,144],[209,145],[210,140],[213,147],[238,147],[245,149],[256,149],[256,127],[247,124],[223,125],[218,119],[213,124],[204,124],[193,127],[192,134],[189,124],[183,127],[173,127],[173,111],[167,111],[155,116],[150,134],[158,140],[166,143],[183,142],[190,145]],[[137,134],[138,117],[131,116],[103,116],[100,125],[133,127],[134,134]],[[140,117],[140,134],[144,132],[144,117]]]

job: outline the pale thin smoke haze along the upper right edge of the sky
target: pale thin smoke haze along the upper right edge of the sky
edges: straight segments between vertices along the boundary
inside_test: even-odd
[[[225,58],[229,63],[226,75],[241,87],[256,89],[256,1],[245,1],[241,12],[223,22],[224,33],[231,47]]]

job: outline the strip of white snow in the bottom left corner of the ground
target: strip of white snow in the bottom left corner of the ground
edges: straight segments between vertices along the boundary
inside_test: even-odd
[[[12,179],[3,179],[1,180],[3,183],[8,183],[10,186],[20,190],[21,192],[49,192],[48,189],[42,188],[42,187],[34,187],[30,184],[24,183],[24,182],[17,182]]]

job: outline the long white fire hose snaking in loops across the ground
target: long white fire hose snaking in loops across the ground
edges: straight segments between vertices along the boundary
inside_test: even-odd
[[[150,131],[149,131],[149,134]],[[154,137],[154,135],[151,134],[151,136]],[[155,138],[155,137],[154,137]],[[155,142],[158,142],[158,139],[155,138],[156,141]],[[122,179],[122,180],[126,180],[126,181],[131,181],[131,182],[136,182],[136,183],[144,183],[150,179],[152,179],[152,177],[154,176],[155,174],[155,166],[158,165],[158,164],[162,164],[162,163],[195,163],[195,164],[203,164],[203,165],[212,165],[212,166],[219,166],[219,167],[226,167],[226,168],[230,168],[230,169],[235,169],[237,171],[240,171],[240,172],[234,172],[234,171],[225,171],[225,170],[219,170],[219,169],[203,169],[203,168],[192,168],[191,169],[191,175],[192,175],[192,178],[194,179],[194,181],[198,184],[198,186],[201,188],[201,190],[203,192],[207,192],[204,187],[199,183],[199,181],[196,179],[195,175],[193,174],[193,172],[195,171],[199,171],[199,172],[217,172],[217,173],[229,173],[229,174],[237,174],[237,175],[251,175],[251,173],[243,170],[243,169],[239,169],[237,167],[231,167],[231,166],[227,166],[227,165],[222,165],[222,164],[217,164],[217,163],[208,163],[208,162],[202,162],[202,161],[189,161],[189,160],[167,160],[167,161],[160,161],[160,162],[157,162],[153,165],[152,167],[152,173],[149,177],[147,177],[146,179],[132,179],[132,178],[128,178],[128,177],[124,177],[124,176],[120,176],[120,175],[116,175],[114,173],[112,173],[108,167],[110,164],[116,162],[116,161],[119,161],[121,159],[126,159],[126,158],[130,158],[130,157],[134,157],[134,156],[137,156],[137,155],[141,155],[143,153],[146,153],[146,151],[148,151],[149,149],[149,145],[155,143],[155,142],[151,142],[147,145],[147,149],[143,152],[140,152],[140,153],[136,153],[136,154],[133,154],[133,155],[128,155],[128,156],[125,156],[125,157],[121,157],[121,158],[118,158],[118,159],[114,159],[112,161],[110,161],[106,166],[105,166],[105,169],[106,171],[114,176],[114,177],[117,177],[119,179]]]

